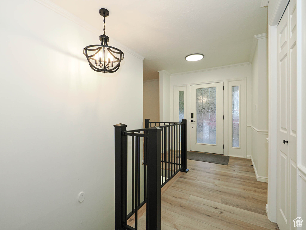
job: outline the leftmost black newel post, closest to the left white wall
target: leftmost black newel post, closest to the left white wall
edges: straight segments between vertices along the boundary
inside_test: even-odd
[[[128,136],[122,135],[127,125],[115,128],[115,230],[127,225],[127,146]]]

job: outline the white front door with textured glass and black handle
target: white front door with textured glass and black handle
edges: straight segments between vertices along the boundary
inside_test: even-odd
[[[190,86],[190,112],[190,150],[223,154],[223,82]]]

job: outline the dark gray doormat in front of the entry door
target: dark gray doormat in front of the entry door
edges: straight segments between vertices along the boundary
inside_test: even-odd
[[[187,151],[187,159],[228,165],[230,157],[224,156],[224,155],[210,154],[210,153],[205,153],[205,152]]]

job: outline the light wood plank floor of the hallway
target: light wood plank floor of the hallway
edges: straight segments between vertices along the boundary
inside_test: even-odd
[[[278,229],[265,211],[267,183],[256,180],[250,159],[230,157],[227,166],[187,164],[190,171],[162,194],[162,230]],[[145,229],[145,215],[138,229]]]

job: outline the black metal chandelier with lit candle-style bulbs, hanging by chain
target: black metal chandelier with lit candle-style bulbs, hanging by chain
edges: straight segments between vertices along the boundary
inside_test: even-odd
[[[101,8],[99,13],[103,16],[103,35],[100,35],[101,45],[89,45],[83,50],[91,69],[97,72],[114,73],[119,67],[124,53],[115,47],[109,46],[110,38],[105,35],[105,17],[110,15],[109,11]],[[120,56],[119,56],[120,55]],[[117,57],[118,56],[118,57]],[[114,66],[114,63],[115,64]]]

